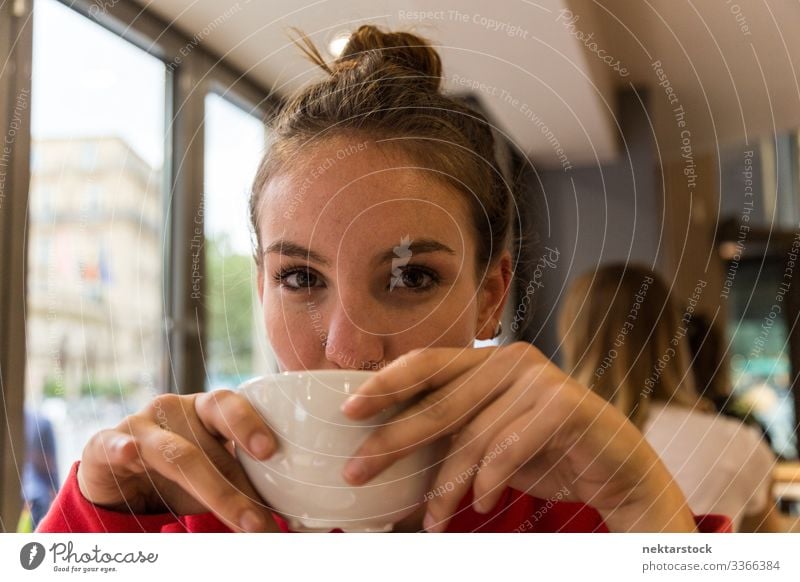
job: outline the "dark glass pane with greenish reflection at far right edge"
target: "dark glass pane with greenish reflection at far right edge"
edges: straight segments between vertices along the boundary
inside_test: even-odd
[[[733,397],[766,431],[776,454],[797,458],[789,363],[788,303],[781,260],[739,263],[730,295]]]

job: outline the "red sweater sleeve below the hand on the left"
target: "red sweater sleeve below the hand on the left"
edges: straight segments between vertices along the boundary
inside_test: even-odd
[[[109,511],[87,500],[78,487],[78,465],[75,461],[67,480],[58,492],[50,510],[36,528],[37,533],[97,532],[160,532],[165,526],[183,529],[172,513],[137,515]],[[167,530],[173,529],[167,527]]]

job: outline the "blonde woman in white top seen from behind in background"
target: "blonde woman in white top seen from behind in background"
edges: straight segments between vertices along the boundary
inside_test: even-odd
[[[654,272],[601,267],[562,306],[565,369],[642,431],[694,512],[728,515],[736,531],[785,531],[770,492],[775,456],[756,429],[697,395],[687,322]]]

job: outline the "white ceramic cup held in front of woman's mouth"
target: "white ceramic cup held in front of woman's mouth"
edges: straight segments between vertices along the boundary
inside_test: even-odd
[[[364,485],[342,477],[348,458],[401,407],[353,421],[341,404],[375,372],[306,370],[255,378],[239,387],[278,438],[259,461],[237,457],[264,500],[293,531],[386,532],[413,513],[430,490],[446,452],[440,439],[397,460]]]

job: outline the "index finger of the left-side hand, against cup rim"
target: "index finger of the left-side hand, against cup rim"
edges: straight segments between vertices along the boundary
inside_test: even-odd
[[[235,442],[256,459],[268,459],[275,452],[272,431],[242,395],[214,390],[198,395],[194,404],[197,417],[212,435]]]

